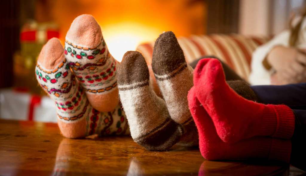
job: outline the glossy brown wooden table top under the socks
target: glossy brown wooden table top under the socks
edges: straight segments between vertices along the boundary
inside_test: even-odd
[[[0,120],[0,175],[288,175],[289,165],[215,162],[198,148],[148,152],[131,137],[67,139],[57,124]]]

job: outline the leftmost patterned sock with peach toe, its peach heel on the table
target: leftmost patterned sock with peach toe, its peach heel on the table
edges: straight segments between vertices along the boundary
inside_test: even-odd
[[[95,133],[129,133],[121,107],[118,105],[106,113],[95,110],[69,66],[60,41],[52,38],[42,48],[35,68],[39,85],[56,103],[58,126],[63,136],[78,138]]]

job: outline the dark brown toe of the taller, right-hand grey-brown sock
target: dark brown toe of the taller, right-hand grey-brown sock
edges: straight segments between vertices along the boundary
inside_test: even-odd
[[[183,50],[173,32],[164,32],[156,39],[152,56],[152,69],[155,74],[164,75],[186,64]]]

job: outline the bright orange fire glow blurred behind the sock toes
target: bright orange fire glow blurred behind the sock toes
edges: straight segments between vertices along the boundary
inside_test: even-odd
[[[60,39],[73,19],[91,14],[103,29],[110,53],[118,61],[126,51],[155,40],[163,31],[176,36],[205,34],[205,3],[197,0],[55,0],[53,19],[60,26]]]

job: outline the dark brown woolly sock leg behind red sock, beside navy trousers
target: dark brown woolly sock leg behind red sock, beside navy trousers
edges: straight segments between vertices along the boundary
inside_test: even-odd
[[[250,88],[250,85],[241,80],[227,81],[227,84],[240,96],[245,99],[259,102],[259,99],[255,92]]]

